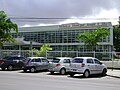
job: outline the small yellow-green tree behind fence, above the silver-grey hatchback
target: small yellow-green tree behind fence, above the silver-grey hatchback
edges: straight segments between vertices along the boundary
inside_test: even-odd
[[[35,56],[37,56],[37,57],[46,57],[46,51],[50,51],[50,50],[52,50],[52,48],[50,47],[50,45],[44,44],[44,45],[42,45],[40,47],[40,50],[35,49],[35,48],[32,49],[32,50],[35,53]],[[47,55],[49,55],[49,54],[47,53]]]

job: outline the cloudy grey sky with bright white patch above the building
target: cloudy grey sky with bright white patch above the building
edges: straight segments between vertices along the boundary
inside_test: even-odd
[[[19,26],[84,23],[101,19],[117,24],[120,0],[0,0],[0,10],[4,10],[11,18],[33,18],[12,19]]]

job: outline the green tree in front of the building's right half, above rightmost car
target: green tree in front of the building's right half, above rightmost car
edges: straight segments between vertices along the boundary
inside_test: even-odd
[[[110,35],[110,32],[107,28],[98,28],[94,32],[84,32],[78,35],[78,40],[82,40],[85,45],[91,47],[92,50],[96,50],[98,42],[101,42],[102,39],[105,39]]]

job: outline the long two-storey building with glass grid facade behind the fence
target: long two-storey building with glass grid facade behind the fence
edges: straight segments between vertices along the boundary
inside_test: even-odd
[[[23,42],[20,43],[22,50],[28,50],[30,41],[32,41],[33,47],[39,47],[43,44],[49,44],[53,51],[92,51],[90,47],[84,45],[83,41],[77,39],[78,34],[84,32],[92,32],[97,28],[109,28],[110,36],[99,42],[96,46],[97,51],[111,52],[113,46],[113,27],[111,22],[98,22],[98,23],[69,23],[62,25],[52,26],[36,26],[36,27],[21,27],[19,28],[19,34],[13,32],[14,38],[23,38]],[[16,47],[5,46],[4,49],[18,49]]]

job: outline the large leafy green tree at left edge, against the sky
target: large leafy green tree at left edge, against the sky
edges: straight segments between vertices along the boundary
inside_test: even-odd
[[[0,46],[5,42],[14,42],[12,30],[18,33],[17,24],[13,23],[4,11],[0,11]]]

